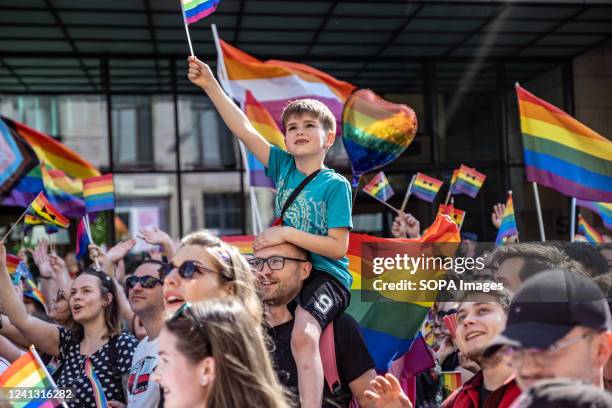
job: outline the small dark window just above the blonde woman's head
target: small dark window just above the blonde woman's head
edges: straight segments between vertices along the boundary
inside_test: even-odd
[[[240,193],[204,194],[204,227],[219,235],[242,233]]]

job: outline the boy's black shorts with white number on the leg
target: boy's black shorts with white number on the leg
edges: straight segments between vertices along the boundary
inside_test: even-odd
[[[325,330],[346,310],[351,293],[329,273],[313,269],[295,301],[317,319],[321,330]]]

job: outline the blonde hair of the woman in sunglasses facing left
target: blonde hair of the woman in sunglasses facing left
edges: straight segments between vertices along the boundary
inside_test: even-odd
[[[257,295],[255,275],[238,248],[221,241],[205,230],[185,236],[179,248],[192,245],[203,247],[212,256],[214,266],[220,271],[219,283],[229,285],[231,294],[242,302],[255,322],[261,324],[263,308]]]

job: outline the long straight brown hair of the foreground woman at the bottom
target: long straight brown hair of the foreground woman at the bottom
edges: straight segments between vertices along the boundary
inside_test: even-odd
[[[166,322],[166,329],[176,337],[180,353],[192,364],[206,357],[215,362],[207,406],[289,407],[262,327],[253,322],[242,302],[232,297],[213,299],[187,303],[179,311]]]

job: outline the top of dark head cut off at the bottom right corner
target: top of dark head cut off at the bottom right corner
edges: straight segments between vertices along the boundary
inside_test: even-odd
[[[612,395],[591,384],[555,378],[538,381],[515,403],[520,408],[608,408]]]

